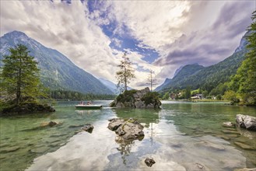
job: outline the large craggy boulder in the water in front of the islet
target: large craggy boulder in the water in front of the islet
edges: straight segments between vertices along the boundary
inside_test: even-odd
[[[142,131],[144,127],[137,120],[130,118],[124,121],[114,118],[109,121],[108,128],[124,140],[142,139],[145,136]]]

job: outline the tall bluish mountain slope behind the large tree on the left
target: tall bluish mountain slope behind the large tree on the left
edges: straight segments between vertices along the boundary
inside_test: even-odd
[[[77,67],[65,55],[44,47],[19,31],[6,33],[1,37],[0,66],[3,65],[3,56],[9,54],[9,47],[14,47],[16,44],[24,44],[29,49],[30,55],[38,62],[40,79],[44,86],[50,89],[65,89],[82,93],[112,93],[98,79]]]

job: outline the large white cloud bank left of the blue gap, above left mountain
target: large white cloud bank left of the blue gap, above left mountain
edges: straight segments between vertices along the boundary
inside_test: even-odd
[[[1,34],[20,30],[46,47],[54,48],[96,77],[114,81],[117,55],[110,39],[86,17],[86,4],[47,1],[1,2]],[[15,12],[13,12],[15,11]]]

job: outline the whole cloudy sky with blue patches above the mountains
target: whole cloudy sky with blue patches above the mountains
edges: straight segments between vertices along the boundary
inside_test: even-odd
[[[154,86],[177,68],[209,66],[229,57],[251,24],[256,0],[0,1],[0,34],[13,30],[65,54],[96,78],[116,82],[124,51],[136,78]]]

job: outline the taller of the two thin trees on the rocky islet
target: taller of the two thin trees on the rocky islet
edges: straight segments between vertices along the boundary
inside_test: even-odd
[[[134,69],[132,68],[132,62],[127,57],[127,52],[124,52],[122,56],[123,60],[121,64],[118,65],[120,70],[116,72],[117,78],[117,89],[120,89],[120,92],[124,92],[127,90],[127,85],[130,83],[131,79],[135,79]]]

